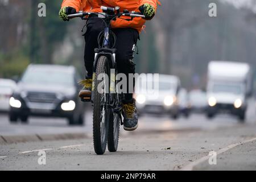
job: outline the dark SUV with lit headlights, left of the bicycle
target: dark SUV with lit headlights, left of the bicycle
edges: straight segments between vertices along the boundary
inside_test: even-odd
[[[10,122],[27,123],[30,115],[68,118],[69,125],[84,123],[84,104],[77,97],[79,76],[72,66],[28,66],[10,98]]]

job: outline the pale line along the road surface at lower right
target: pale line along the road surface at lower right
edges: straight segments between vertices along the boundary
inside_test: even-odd
[[[254,140],[256,140],[256,138],[248,139],[248,140],[245,140],[243,142],[230,144],[229,146],[227,146],[225,148],[222,148],[221,150],[218,150],[216,153],[217,153],[217,155],[222,154],[223,152],[226,152],[226,151],[228,151],[228,150],[230,150],[234,147],[237,147],[241,144],[253,142]],[[192,162],[192,163],[188,164],[187,166],[181,168],[181,171],[192,171],[195,166],[209,160],[209,158],[210,158],[210,156],[208,156],[208,155],[204,156],[203,158],[200,158],[200,159],[196,160],[195,162]]]

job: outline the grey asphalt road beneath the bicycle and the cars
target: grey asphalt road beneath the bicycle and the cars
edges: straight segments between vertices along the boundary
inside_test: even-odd
[[[93,151],[91,111],[86,112],[83,127],[69,127],[65,119],[43,118],[31,118],[29,125],[10,125],[2,114],[1,135],[85,132],[89,137],[2,145],[0,170],[256,170],[255,118],[254,102],[244,124],[229,115],[210,121],[203,114],[176,121],[144,115],[136,131],[122,130],[118,152],[98,156]],[[42,150],[46,165],[38,163]],[[209,152],[216,152],[216,164],[209,164]]]

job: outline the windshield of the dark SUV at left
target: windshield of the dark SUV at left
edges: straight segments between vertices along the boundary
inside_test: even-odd
[[[26,84],[72,86],[73,76],[69,72],[52,69],[29,69],[22,77]]]

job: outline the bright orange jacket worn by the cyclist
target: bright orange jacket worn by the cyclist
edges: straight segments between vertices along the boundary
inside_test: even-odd
[[[115,7],[119,6],[120,11],[138,11],[139,6],[148,3],[155,7],[160,5],[158,0],[63,0],[61,7],[73,7],[76,11],[102,12],[101,6]],[[142,18],[134,18],[132,21],[117,18],[112,22],[112,28],[135,28],[141,32],[143,24],[146,21]]]

